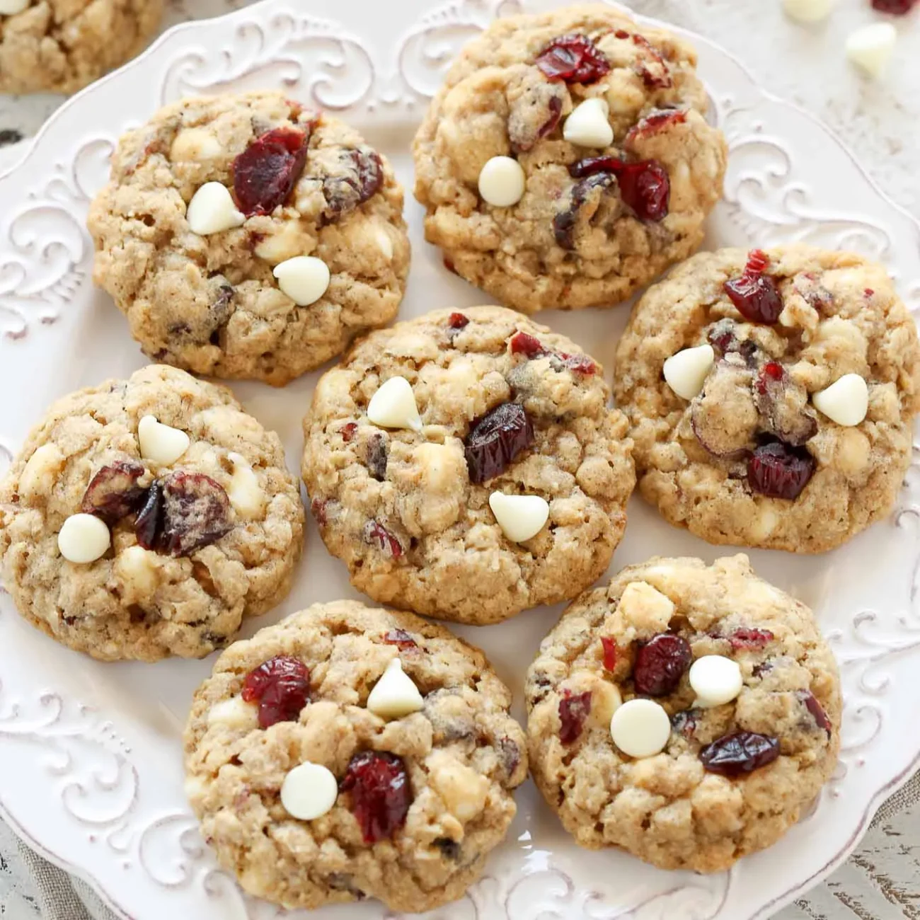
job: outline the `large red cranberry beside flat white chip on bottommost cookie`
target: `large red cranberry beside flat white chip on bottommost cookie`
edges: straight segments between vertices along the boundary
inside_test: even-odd
[[[356,753],[339,788],[351,792],[351,813],[365,844],[391,838],[406,823],[412,790],[406,765],[395,753]]]

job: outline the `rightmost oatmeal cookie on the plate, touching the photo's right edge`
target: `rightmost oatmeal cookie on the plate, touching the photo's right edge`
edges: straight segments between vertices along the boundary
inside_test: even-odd
[[[710,543],[817,553],[891,510],[920,345],[880,265],[723,249],[638,302],[614,387],[639,488],[668,521]]]

